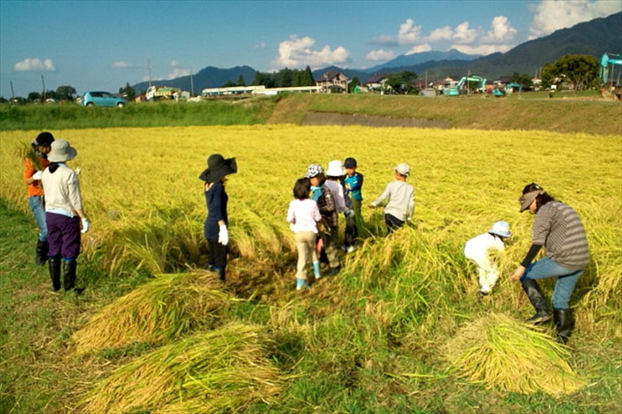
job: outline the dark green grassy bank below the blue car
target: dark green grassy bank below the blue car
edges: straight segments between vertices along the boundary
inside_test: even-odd
[[[250,125],[263,122],[271,99],[241,102],[130,102],[124,108],[57,105],[0,105],[0,130]]]

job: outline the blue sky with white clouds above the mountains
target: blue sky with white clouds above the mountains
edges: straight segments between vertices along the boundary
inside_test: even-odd
[[[0,1],[0,95],[118,91],[205,66],[366,68],[404,53],[510,48],[620,0]]]

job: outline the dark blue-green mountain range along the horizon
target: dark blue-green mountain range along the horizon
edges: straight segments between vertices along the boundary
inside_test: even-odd
[[[460,77],[470,71],[488,79],[509,76],[513,72],[535,74],[545,63],[553,63],[560,57],[572,55],[592,55],[600,59],[605,52],[622,53],[622,12],[608,17],[579,23],[569,29],[560,29],[552,34],[521,43],[506,53],[491,55],[465,55],[457,50],[447,52],[429,51],[400,55],[396,58],[366,69],[349,69],[328,66],[313,71],[315,79],[322,77],[327,70],[339,70],[348,78],[358,77],[361,82],[372,74],[414,71],[429,79],[445,76]],[[236,82],[243,76],[246,83],[251,83],[256,70],[250,66],[236,66],[221,69],[207,66],[193,75],[194,91],[203,88],[218,88],[227,81]],[[152,81],[158,86],[172,86],[190,90],[190,76]],[[136,92],[147,89],[148,83],[141,82],[134,86]]]

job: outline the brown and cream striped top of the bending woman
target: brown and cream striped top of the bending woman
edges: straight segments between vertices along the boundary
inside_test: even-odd
[[[569,205],[550,201],[538,209],[533,228],[534,245],[544,245],[546,254],[570,270],[585,269],[590,261],[585,229]]]

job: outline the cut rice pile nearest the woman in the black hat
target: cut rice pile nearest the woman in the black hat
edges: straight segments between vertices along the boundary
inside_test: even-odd
[[[213,328],[230,295],[210,272],[162,274],[98,312],[73,334],[76,353],[116,348],[142,341],[159,343],[188,330]]]

